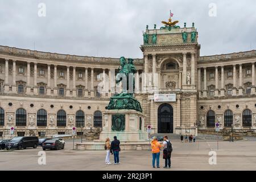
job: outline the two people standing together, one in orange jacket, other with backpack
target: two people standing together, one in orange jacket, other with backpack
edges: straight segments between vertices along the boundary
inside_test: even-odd
[[[165,160],[164,168],[171,168],[172,143],[168,140],[168,137],[164,136],[164,142],[162,146],[160,142],[158,142],[158,139],[154,137],[151,142],[151,148],[152,148],[152,167],[155,168],[155,160],[156,160],[156,167],[160,168],[160,164],[159,164],[160,150],[163,148],[163,159]]]

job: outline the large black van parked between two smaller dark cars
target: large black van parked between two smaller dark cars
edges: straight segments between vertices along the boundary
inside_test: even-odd
[[[38,147],[38,137],[14,137],[5,145],[7,149],[17,148],[18,150],[28,147]]]

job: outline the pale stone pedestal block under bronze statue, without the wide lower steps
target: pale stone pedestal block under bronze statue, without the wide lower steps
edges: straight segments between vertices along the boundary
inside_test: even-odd
[[[114,136],[123,142],[145,142],[148,134],[144,129],[144,118],[136,110],[106,110],[104,112],[105,126],[100,134],[100,141]]]

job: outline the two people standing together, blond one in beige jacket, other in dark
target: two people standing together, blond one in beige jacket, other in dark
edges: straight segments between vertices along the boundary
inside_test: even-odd
[[[105,142],[105,150],[106,150],[106,164],[112,164],[110,163],[110,154],[114,154],[114,164],[120,164],[119,162],[119,152],[121,151],[120,148],[120,141],[117,139],[116,136],[114,136],[114,140],[110,143],[110,139],[106,138]]]

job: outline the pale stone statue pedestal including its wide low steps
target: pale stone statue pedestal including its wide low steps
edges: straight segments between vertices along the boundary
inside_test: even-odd
[[[104,150],[106,138],[120,140],[121,150],[150,150],[148,134],[144,128],[144,118],[137,110],[106,110],[105,126],[102,127],[100,139],[91,142],[76,143],[76,150]]]

